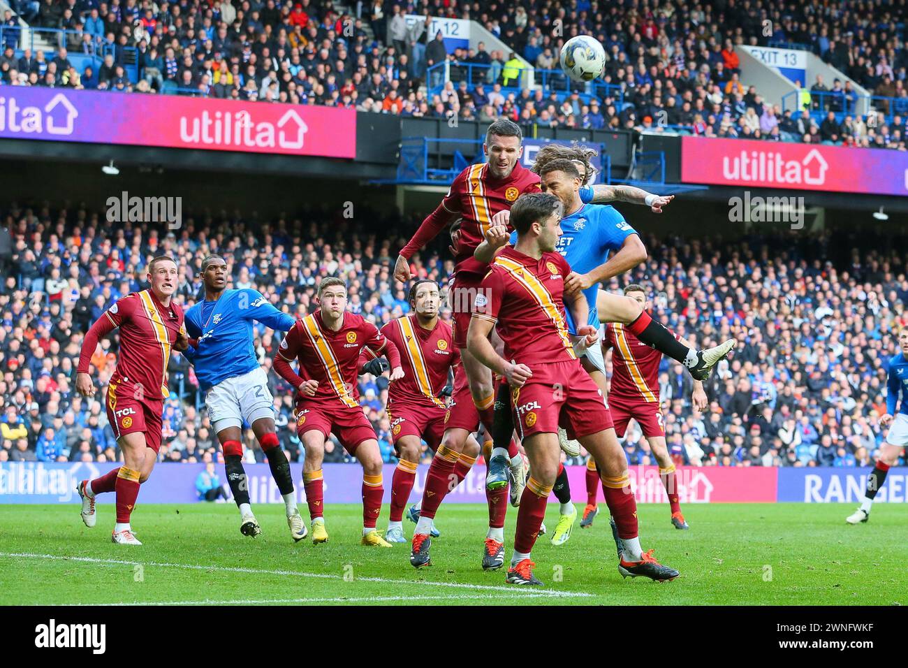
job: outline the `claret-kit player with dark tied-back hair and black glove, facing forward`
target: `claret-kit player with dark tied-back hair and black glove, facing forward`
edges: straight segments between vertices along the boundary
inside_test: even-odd
[[[420,280],[410,286],[413,313],[393,320],[381,334],[400,351],[404,377],[390,384],[388,405],[391,440],[399,462],[391,481],[390,522],[385,540],[406,543],[403,511],[413,490],[419,464],[420,441],[436,452],[445,432],[448,406],[443,393],[450,369],[459,364],[460,352],[454,346],[451,326],[439,319],[441,298],[435,281]],[[365,356],[374,356],[368,348]],[[469,439],[454,465],[456,486],[467,476],[479,456],[479,443]],[[414,509],[414,514],[419,511]]]

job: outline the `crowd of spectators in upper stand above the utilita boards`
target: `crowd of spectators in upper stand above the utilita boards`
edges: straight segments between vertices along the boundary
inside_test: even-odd
[[[667,124],[694,135],[905,150],[906,10],[898,4],[883,5],[878,20],[869,22],[856,0],[835,7],[819,0],[654,0],[607,9],[586,0],[377,0],[349,12],[319,0],[10,2],[29,25],[68,32],[53,34],[55,51],[33,52],[21,44],[15,15],[5,16],[2,85],[335,105],[480,122],[506,116],[546,127],[657,132]],[[440,35],[428,35],[426,22],[408,27],[406,14],[478,21],[513,51],[477,45],[447,54]],[[552,35],[556,19],[563,37]],[[535,91],[513,87],[520,67],[515,54],[540,71],[552,70],[564,39],[579,34],[597,37],[610,56],[598,97],[568,89],[557,75]],[[741,80],[734,49],[767,44],[812,51],[881,96],[871,117],[855,115],[854,88],[837,80],[802,82],[795,109],[767,103]],[[442,81],[438,65],[446,60],[450,77]],[[433,65],[434,75],[427,69]]]

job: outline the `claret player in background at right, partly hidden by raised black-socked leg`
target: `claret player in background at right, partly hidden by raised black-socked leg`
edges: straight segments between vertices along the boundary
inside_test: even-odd
[[[650,304],[646,301],[646,290],[642,285],[629,284],[624,289],[624,294],[641,304],[648,310]],[[682,344],[689,345],[684,338],[676,338]],[[612,380],[608,391],[608,410],[615,423],[615,434],[624,438],[627,423],[633,418],[640,425],[646,441],[656,456],[659,464],[659,477],[666,486],[668,503],[671,507],[672,524],[676,529],[688,529],[681,505],[678,503],[678,494],[675,481],[675,463],[668,456],[666,447],[666,430],[663,424],[662,411],[659,408],[659,363],[662,353],[650,345],[640,341],[633,332],[620,323],[608,323],[605,326],[605,336],[602,340],[602,351],[605,354],[608,348],[612,349]],[[705,411],[706,392],[703,382],[695,380],[691,403],[697,411]],[[586,522],[581,526],[590,526],[592,518],[596,516],[596,495],[599,482],[595,470],[595,461],[592,462],[593,473],[590,473],[590,464],[587,463],[587,508],[583,518]],[[591,499],[591,501],[590,501]]]

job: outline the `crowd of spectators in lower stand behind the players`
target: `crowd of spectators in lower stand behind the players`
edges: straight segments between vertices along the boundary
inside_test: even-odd
[[[300,220],[243,221],[236,214],[192,217],[173,233],[130,224],[109,233],[96,212],[26,209],[0,212],[0,462],[113,461],[119,458],[102,405],[74,392],[74,359],[84,332],[123,294],[144,287],[155,254],[179,263],[176,299],[193,304],[201,290],[202,257],[217,252],[233,287],[253,287],[279,308],[314,310],[318,281],[339,275],[350,285],[350,309],[379,326],[408,313],[392,278],[398,249],[419,215],[369,212],[364,227],[340,215],[304,212]],[[101,216],[100,220],[103,220]],[[381,232],[377,232],[381,231]],[[677,464],[716,466],[866,465],[882,443],[886,364],[893,328],[908,324],[904,237],[870,229],[839,233],[696,238],[644,234],[645,267],[621,283],[644,284],[655,317],[695,342],[735,335],[746,344],[706,384],[710,410],[692,412],[690,378],[665,361],[660,374],[670,452]],[[854,249],[847,251],[844,249]],[[825,260],[825,258],[831,258]],[[822,260],[820,258],[823,258]],[[451,261],[440,238],[413,258],[420,277],[446,285]],[[449,318],[449,311],[443,316]],[[279,337],[261,325],[262,364],[270,368]],[[99,384],[114,371],[116,337],[93,357]],[[609,368],[610,371],[610,368]],[[173,354],[172,394],[163,414],[160,457],[171,462],[219,461],[197,381]],[[299,461],[291,392],[269,374],[281,445]],[[387,380],[362,376],[363,409],[379,434],[382,456],[395,462],[383,407]],[[254,440],[247,438],[252,446]],[[654,463],[646,439],[628,434],[631,464]],[[246,455],[262,461],[252,447]],[[425,453],[429,457],[429,453]],[[349,457],[327,446],[327,462]],[[584,464],[586,453],[569,464]]]

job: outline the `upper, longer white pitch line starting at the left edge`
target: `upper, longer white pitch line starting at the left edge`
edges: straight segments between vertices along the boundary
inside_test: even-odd
[[[258,575],[292,575],[296,577],[322,578],[326,580],[343,580],[343,575],[333,575],[331,573],[304,573],[301,571],[284,571],[278,569],[265,568],[242,568],[237,566],[215,566],[200,565],[195,563],[161,563],[161,562],[132,562],[123,559],[98,559],[96,557],[80,556],[63,556],[60,554],[41,554],[29,552],[0,552],[0,557],[24,558],[24,559],[56,559],[61,561],[73,561],[84,563],[101,563],[106,565],[124,565],[124,566],[152,566],[156,568],[185,568],[193,571],[222,571],[225,573],[252,573]],[[515,589],[514,587],[495,586],[492,584],[469,584],[469,583],[440,583],[421,580],[393,580],[382,577],[360,577],[355,578],[357,582],[385,583],[385,584],[421,584],[433,587],[451,587],[456,589],[473,589],[487,592],[508,592],[517,593],[518,595],[535,595],[545,594],[558,598],[587,598],[592,596],[586,592],[560,592],[555,589]],[[525,593],[523,593],[525,592]]]

